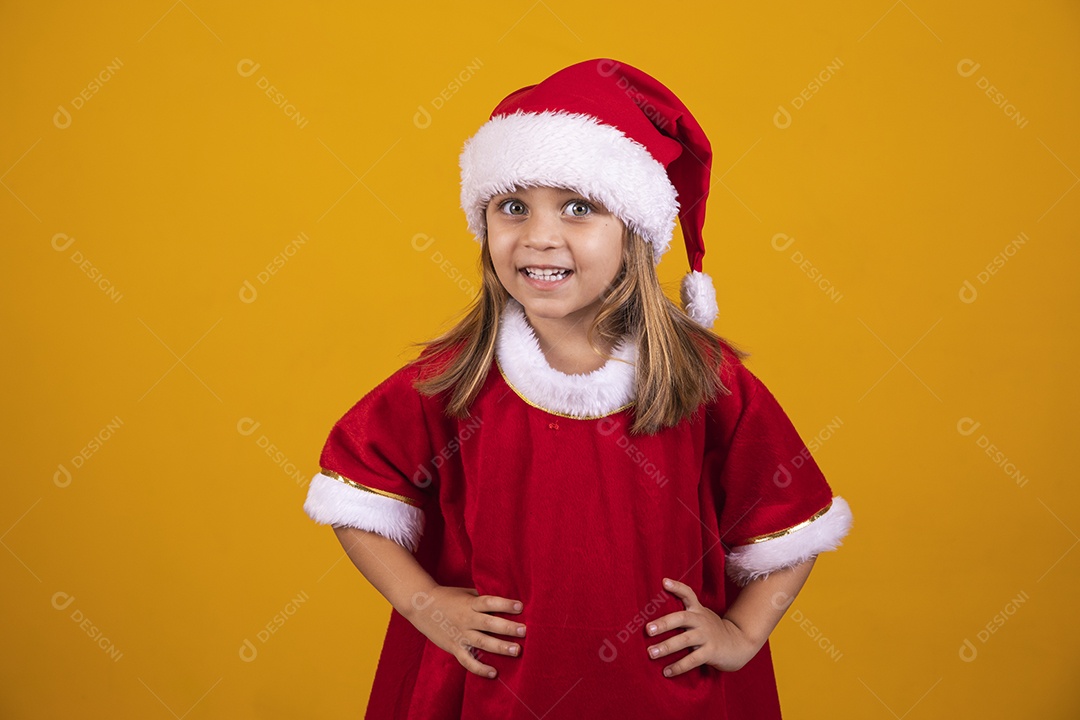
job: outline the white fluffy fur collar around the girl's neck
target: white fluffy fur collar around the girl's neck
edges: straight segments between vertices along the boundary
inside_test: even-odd
[[[525,309],[507,301],[499,322],[495,356],[503,378],[526,403],[552,415],[602,418],[634,402],[637,347],[620,342],[603,367],[583,375],[567,375],[548,364]],[[626,361],[626,362],[619,362]]]

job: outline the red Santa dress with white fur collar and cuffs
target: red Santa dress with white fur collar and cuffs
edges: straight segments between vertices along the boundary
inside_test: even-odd
[[[514,300],[471,415],[413,386],[407,366],[334,425],[305,510],[415,553],[441,585],[518,599],[517,657],[468,673],[391,611],[367,718],[774,720],[769,646],[742,669],[666,678],[648,622],[684,609],[674,578],[718,614],[750,580],[835,549],[851,525],[791,420],[725,349],[718,396],[631,435],[635,348],[602,368],[548,365]],[[620,362],[626,361],[626,362]],[[510,639],[510,638],[503,638]]]

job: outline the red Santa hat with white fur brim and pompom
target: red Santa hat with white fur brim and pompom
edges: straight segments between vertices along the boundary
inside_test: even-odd
[[[461,207],[477,240],[488,201],[515,186],[576,190],[652,245],[671,245],[678,217],[690,272],[683,307],[712,327],[716,291],[704,274],[713,151],[681,100],[642,70],[597,58],[508,95],[461,152]]]

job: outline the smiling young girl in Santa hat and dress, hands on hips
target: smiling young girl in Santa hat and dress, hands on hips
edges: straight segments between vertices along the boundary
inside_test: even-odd
[[[335,424],[305,504],[393,606],[368,718],[780,717],[769,634],[851,514],[707,329],[711,161],[609,59],[465,145],[482,291]]]

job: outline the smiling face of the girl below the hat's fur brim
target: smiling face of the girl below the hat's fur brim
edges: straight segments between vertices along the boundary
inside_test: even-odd
[[[546,187],[495,195],[486,213],[496,274],[534,326],[590,327],[622,268],[622,220],[579,192]]]

